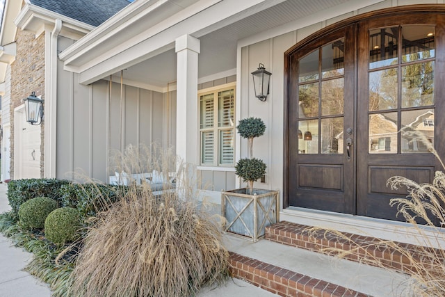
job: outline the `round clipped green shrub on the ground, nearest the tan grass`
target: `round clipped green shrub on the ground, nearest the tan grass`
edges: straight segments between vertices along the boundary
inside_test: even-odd
[[[63,244],[76,239],[79,227],[79,211],[72,207],[62,207],[51,211],[44,220],[44,235],[56,244]]]

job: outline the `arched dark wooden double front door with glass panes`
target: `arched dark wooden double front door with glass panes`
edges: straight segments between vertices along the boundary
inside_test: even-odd
[[[286,52],[289,206],[401,220],[389,200],[406,189],[387,179],[432,182],[440,170],[428,143],[444,156],[445,17],[380,15]]]

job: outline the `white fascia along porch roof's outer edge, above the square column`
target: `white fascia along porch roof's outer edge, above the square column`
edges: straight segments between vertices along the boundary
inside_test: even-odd
[[[193,33],[209,27],[212,27],[213,30],[220,29],[282,1],[284,0],[244,0],[240,3],[238,0],[225,0],[218,1],[216,5],[205,9],[195,6],[201,4],[202,1],[200,1],[187,8],[189,11],[186,15],[184,15],[186,10],[182,10],[165,19],[164,22],[147,29],[144,33],[129,38],[120,47],[115,47],[82,65],[70,63],[72,60],[65,60],[65,70],[79,72],[79,83],[89,84],[124,67],[131,67],[147,58],[174,48],[172,42],[175,42],[176,38],[181,35],[190,34],[199,38],[200,34]],[[208,2],[206,1],[206,3]],[[76,44],[77,42],[72,47]],[[66,58],[65,51],[59,55],[59,58],[62,60]],[[77,58],[81,58],[81,56]]]

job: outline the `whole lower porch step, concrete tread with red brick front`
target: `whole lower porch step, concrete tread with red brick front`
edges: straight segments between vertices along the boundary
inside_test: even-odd
[[[266,239],[226,234],[234,278],[280,296],[411,296],[410,276]],[[407,294],[408,293],[408,294]]]

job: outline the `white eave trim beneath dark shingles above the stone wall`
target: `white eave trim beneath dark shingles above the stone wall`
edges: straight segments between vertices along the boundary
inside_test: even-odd
[[[82,35],[95,29],[95,26],[79,22],[71,17],[66,17],[65,15],[60,15],[51,10],[32,4],[26,4],[20,11],[19,15],[17,15],[14,22],[16,26],[22,30],[37,32],[42,28],[42,24],[54,24],[56,19],[60,19],[63,22],[63,26],[66,28],[79,32]]]

